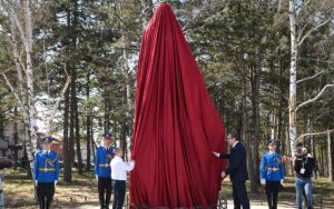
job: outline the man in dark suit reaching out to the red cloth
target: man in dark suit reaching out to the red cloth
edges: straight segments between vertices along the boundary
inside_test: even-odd
[[[222,172],[223,179],[229,175],[233,187],[234,208],[249,209],[249,199],[246,190],[246,180],[248,179],[246,165],[246,149],[237,140],[236,132],[227,135],[227,142],[232,146],[230,153],[213,153],[220,159],[228,159],[228,168]]]

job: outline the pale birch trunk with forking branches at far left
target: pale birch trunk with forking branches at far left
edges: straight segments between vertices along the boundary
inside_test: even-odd
[[[10,30],[11,30],[11,43],[14,57],[14,64],[18,73],[18,86],[19,86],[19,96],[13,91],[13,88],[7,77],[4,80],[7,84],[10,87],[11,91],[16,96],[16,99],[19,103],[19,107],[23,115],[24,121],[24,130],[28,132],[28,140],[24,139],[24,153],[27,153],[28,168],[32,168],[33,159],[35,159],[35,150],[37,149],[37,136],[36,136],[36,109],[35,109],[35,91],[33,91],[33,72],[32,72],[32,19],[31,19],[31,6],[30,1],[21,1],[24,10],[24,20],[26,28],[23,29],[23,24],[19,21],[18,10],[10,10]],[[20,7],[19,7],[20,8]],[[17,29],[21,34],[21,42],[23,43],[23,49],[26,51],[26,67],[23,67],[23,61],[19,62],[20,56],[18,50],[18,37],[16,34]],[[26,70],[26,80],[23,80],[22,67]],[[27,84],[27,86],[26,86]],[[24,87],[23,87],[24,86]],[[28,170],[28,172],[32,172],[32,170]],[[28,176],[32,177],[31,173]],[[35,182],[35,181],[32,181]]]

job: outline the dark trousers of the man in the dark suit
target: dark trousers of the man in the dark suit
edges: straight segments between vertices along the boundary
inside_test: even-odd
[[[249,209],[249,199],[246,190],[245,181],[233,181],[233,202],[235,209]]]

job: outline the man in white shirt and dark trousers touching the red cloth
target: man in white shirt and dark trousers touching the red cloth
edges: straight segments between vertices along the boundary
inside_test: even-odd
[[[120,148],[115,149],[115,158],[110,162],[111,167],[111,179],[112,179],[112,188],[115,192],[115,201],[112,209],[121,209],[125,195],[126,195],[126,180],[127,180],[127,171],[131,171],[135,168],[135,161],[130,163],[125,162],[122,160],[122,150]]]

